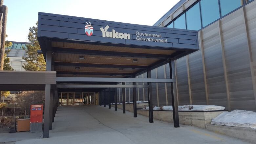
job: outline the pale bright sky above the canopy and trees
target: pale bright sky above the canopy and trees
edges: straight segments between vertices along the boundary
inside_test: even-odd
[[[29,27],[35,26],[38,12],[153,25],[178,1],[4,0],[8,7],[7,40],[28,42]]]

